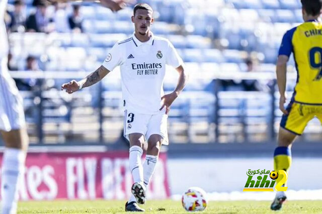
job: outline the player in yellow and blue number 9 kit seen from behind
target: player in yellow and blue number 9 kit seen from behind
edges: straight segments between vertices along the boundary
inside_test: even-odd
[[[307,123],[314,117],[322,123],[322,23],[317,21],[322,3],[321,0],[301,0],[301,3],[304,23],[285,33],[276,66],[283,116],[278,147],[274,152],[275,170],[289,169],[292,143],[303,133]],[[285,109],[286,63],[292,52],[297,80],[291,101]],[[286,194],[277,192],[271,209],[280,209],[285,200]]]

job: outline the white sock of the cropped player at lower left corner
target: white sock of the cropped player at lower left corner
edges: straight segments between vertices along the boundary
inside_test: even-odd
[[[2,214],[17,212],[19,175],[25,168],[26,153],[20,149],[5,150],[2,164]]]

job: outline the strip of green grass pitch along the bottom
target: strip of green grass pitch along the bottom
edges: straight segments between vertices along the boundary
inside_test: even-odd
[[[54,200],[20,202],[18,213],[126,213],[125,201],[107,200]],[[202,213],[322,213],[322,200],[286,201],[280,211],[269,209],[270,201],[210,201]],[[181,201],[147,201],[142,205],[148,213],[187,213]]]

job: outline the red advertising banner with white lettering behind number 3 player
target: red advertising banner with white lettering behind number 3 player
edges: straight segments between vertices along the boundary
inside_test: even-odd
[[[128,152],[29,153],[19,195],[21,200],[128,199],[132,183]],[[166,153],[160,153],[147,196],[170,196]]]

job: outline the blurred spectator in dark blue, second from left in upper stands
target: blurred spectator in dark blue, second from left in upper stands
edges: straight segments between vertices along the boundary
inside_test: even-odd
[[[43,33],[52,32],[53,27],[50,26],[52,20],[47,16],[48,2],[45,0],[34,0],[32,5],[36,7],[36,13],[31,14],[27,19],[27,31]]]

